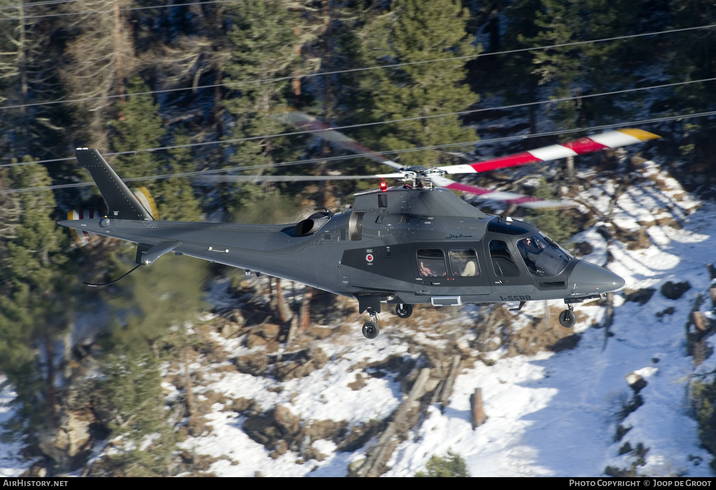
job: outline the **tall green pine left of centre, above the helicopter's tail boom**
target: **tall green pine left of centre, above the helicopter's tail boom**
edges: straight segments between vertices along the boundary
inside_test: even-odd
[[[231,59],[225,67],[225,81],[230,86],[232,82],[271,79],[292,72],[301,59],[301,36],[307,35],[300,34],[304,22],[296,7],[297,4],[287,0],[246,0],[231,4],[228,14],[233,26],[227,33]],[[276,115],[287,108],[288,80],[234,84],[233,88],[232,96],[223,102],[233,118],[232,139],[286,132]],[[286,137],[236,142],[232,145],[230,161],[248,166],[297,160],[299,152],[294,146]],[[236,187],[226,186],[223,194],[226,211],[236,212],[251,200],[251,187],[263,192],[260,189],[273,186],[246,185],[238,192]]]

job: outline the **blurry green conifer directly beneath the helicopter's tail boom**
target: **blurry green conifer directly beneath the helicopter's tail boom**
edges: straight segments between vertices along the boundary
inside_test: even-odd
[[[180,358],[177,331],[198,321],[205,308],[205,263],[162,257],[126,278],[118,293],[105,293],[115,308],[102,339],[102,383],[112,436],[124,436],[115,461],[127,476],[168,474],[177,438],[165,412],[160,363]]]

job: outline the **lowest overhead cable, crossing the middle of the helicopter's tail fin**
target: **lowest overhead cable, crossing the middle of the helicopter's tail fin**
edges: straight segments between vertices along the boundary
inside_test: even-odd
[[[713,116],[716,115],[716,111],[709,111],[709,112],[700,112],[698,114],[685,114],[685,115],[677,115],[677,116],[669,116],[669,117],[657,117],[654,119],[641,119],[639,121],[631,121],[631,122],[620,122],[617,124],[602,124],[601,126],[590,126],[590,127],[580,127],[576,129],[561,129],[558,131],[546,131],[541,133],[533,133],[533,134],[521,134],[518,136],[505,136],[505,137],[499,137],[499,138],[490,138],[490,139],[479,139],[478,141],[469,141],[469,142],[460,142],[460,143],[449,143],[449,144],[435,144],[431,146],[425,146],[425,147],[416,147],[416,148],[407,148],[405,150],[392,150],[390,152],[385,153],[405,153],[405,152],[417,152],[417,151],[423,151],[423,150],[440,150],[442,148],[449,148],[449,147],[460,147],[465,146],[468,144],[485,144],[485,143],[495,143],[495,142],[503,142],[503,141],[509,141],[511,139],[527,139],[527,138],[533,138],[533,137],[543,137],[543,136],[555,136],[558,134],[569,134],[574,132],[582,132],[582,131],[591,131],[596,129],[611,129],[614,127],[624,127],[624,126],[636,126],[639,124],[652,124],[654,122],[664,122],[664,121],[675,121],[679,119],[690,119],[692,117],[707,117],[707,116]],[[332,128],[334,129],[334,128]],[[117,155],[117,154],[105,154],[107,156],[109,155]],[[296,160],[294,162],[283,162],[279,164],[270,164],[270,165],[255,165],[255,166],[249,166],[249,167],[230,167],[230,168],[222,168],[222,169],[214,169],[214,170],[198,170],[195,172],[179,172],[174,174],[165,174],[165,175],[151,175],[147,177],[132,177],[129,179],[122,179],[125,182],[135,182],[140,180],[161,180],[161,179],[168,179],[170,177],[190,177],[193,175],[211,175],[211,174],[217,174],[221,172],[230,172],[233,170],[253,170],[256,168],[266,168],[266,167],[286,167],[289,165],[301,165],[305,163],[315,163],[315,162],[326,162],[326,161],[335,161],[335,160],[352,160],[354,158],[363,157],[366,155],[346,155],[342,157],[327,157],[327,158],[316,158],[313,160]],[[71,160],[69,158],[62,159],[62,160]],[[32,163],[32,162],[29,162]],[[8,190],[0,190],[0,194],[11,194],[14,192],[31,192],[34,190],[47,190],[47,189],[67,189],[70,187],[86,187],[89,185],[95,185],[95,182],[77,182],[74,184],[59,184],[59,185],[46,185],[42,187],[24,187],[22,189],[8,189]]]

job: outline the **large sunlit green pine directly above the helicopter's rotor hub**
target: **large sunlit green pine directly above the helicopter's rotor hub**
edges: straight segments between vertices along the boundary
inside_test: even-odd
[[[363,62],[375,66],[477,55],[478,48],[465,32],[468,19],[460,1],[396,0],[390,13],[376,16],[362,29]],[[360,139],[383,151],[477,140],[475,131],[463,127],[458,116],[431,117],[478,102],[478,95],[464,83],[465,74],[465,59],[365,72],[357,116],[365,122],[410,120],[367,127]],[[422,151],[400,158],[405,165],[431,167],[446,157]]]

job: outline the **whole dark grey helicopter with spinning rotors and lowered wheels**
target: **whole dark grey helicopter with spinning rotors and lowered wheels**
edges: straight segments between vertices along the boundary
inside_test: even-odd
[[[354,298],[366,338],[376,338],[383,303],[395,305],[399,318],[412,315],[412,305],[519,302],[563,299],[559,323],[574,327],[574,303],[600,298],[624,286],[624,279],[599,265],[580,260],[526,222],[488,215],[455,195],[469,192],[489,200],[529,208],[571,207],[513,192],[495,192],[463,184],[446,174],[482,172],[515,165],[616,148],[658,138],[642,129],[617,129],[573,142],[493,160],[447,167],[405,167],[369,150],[318,119],[300,112],[289,122],[334,145],[388,165],[397,172],[368,176],[224,175],[207,180],[382,179],[379,188],[354,194],[348,210],[319,208],[296,223],[249,225],[158,220],[155,205],[132,192],[98,150],[77,148],[80,167],[89,170],[107,214],[59,221],[87,234],[115,237],[137,244],[135,267],[150,265],[165,253],[188,255],[212,263],[243,268],[246,275],[273,275],[330,293]],[[385,179],[402,180],[387,185]],[[74,216],[76,217],[76,216]]]

